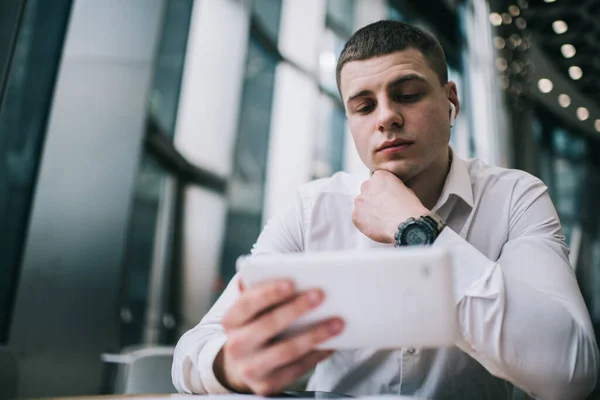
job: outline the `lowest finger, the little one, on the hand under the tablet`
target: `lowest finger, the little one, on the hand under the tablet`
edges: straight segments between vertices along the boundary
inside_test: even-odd
[[[312,351],[300,360],[286,365],[259,383],[250,384],[252,391],[260,396],[281,392],[290,384],[300,379],[318,363],[329,357],[333,351]]]

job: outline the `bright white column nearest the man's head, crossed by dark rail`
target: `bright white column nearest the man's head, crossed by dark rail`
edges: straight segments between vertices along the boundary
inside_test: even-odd
[[[314,76],[325,7],[325,0],[283,0],[281,10],[280,51]],[[319,89],[310,76],[280,63],[274,90],[263,221],[293,201],[298,185],[310,179],[318,121]]]

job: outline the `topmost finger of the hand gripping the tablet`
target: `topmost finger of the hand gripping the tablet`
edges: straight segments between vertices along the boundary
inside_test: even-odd
[[[293,283],[289,280],[277,280],[246,289],[234,305],[223,316],[221,324],[230,331],[253,320],[265,309],[289,300],[294,295]]]

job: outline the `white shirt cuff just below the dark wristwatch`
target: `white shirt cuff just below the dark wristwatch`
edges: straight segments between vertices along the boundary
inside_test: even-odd
[[[445,247],[450,250],[456,304],[460,303],[467,295],[469,288],[478,281],[486,279],[496,265],[448,227],[442,230],[433,246]]]

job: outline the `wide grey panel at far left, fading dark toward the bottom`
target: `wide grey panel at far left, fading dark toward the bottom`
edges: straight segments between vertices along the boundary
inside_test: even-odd
[[[164,5],[73,2],[10,326],[19,398],[96,393],[100,354],[119,346],[117,305]]]

